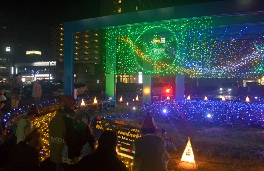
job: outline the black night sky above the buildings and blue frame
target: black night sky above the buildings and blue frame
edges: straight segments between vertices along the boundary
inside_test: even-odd
[[[201,2],[201,0],[163,1],[164,7]],[[46,51],[50,49],[52,28],[58,27],[62,22],[94,18],[99,15],[100,0],[1,0],[0,2],[0,26],[3,24],[10,33],[15,34],[18,38],[17,43],[22,44],[26,50],[42,51],[44,56],[48,56]]]

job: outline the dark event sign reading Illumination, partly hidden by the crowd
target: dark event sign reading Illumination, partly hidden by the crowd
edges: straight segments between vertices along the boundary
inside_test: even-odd
[[[134,154],[135,152],[133,151],[133,143],[135,139],[141,137],[141,134],[140,134],[141,125],[127,123],[123,121],[110,120],[110,119],[105,119],[101,117],[95,117],[93,132],[94,132],[95,139],[97,141],[101,133],[103,132],[103,128],[101,126],[102,120],[106,121],[107,124],[109,124],[109,130],[113,130],[113,128],[117,127],[118,124],[124,125],[123,129],[118,131],[117,133],[118,147],[120,150]]]

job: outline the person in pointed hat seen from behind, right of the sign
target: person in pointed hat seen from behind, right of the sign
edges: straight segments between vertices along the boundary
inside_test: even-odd
[[[141,137],[134,141],[133,171],[167,171],[170,159],[165,140],[158,136],[154,118],[149,112],[141,126]]]

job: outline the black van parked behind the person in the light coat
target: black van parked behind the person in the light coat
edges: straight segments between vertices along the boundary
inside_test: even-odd
[[[33,85],[36,81],[31,82],[28,85],[22,87],[21,91],[25,96],[32,96]],[[41,85],[42,94],[50,94],[52,91],[56,91],[58,88],[63,87],[62,80],[39,80]]]

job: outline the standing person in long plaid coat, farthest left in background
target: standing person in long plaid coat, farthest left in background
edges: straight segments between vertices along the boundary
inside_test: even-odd
[[[12,83],[10,91],[11,109],[18,109],[18,103],[21,100],[21,87],[23,85],[21,74],[16,74],[15,78],[12,78],[10,82]]]

